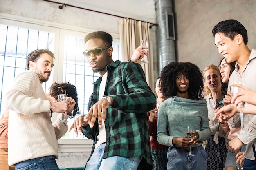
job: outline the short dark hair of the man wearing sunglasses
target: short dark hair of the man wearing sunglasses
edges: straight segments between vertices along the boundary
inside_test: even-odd
[[[106,46],[112,46],[112,42],[113,42],[112,36],[109,33],[106,33],[104,31],[96,31],[96,32],[86,35],[85,36],[85,44],[88,40],[96,39],[96,38],[99,38],[103,42],[105,42]]]

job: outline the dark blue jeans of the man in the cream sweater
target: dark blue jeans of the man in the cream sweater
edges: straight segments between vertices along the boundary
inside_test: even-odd
[[[16,170],[59,170],[54,156],[29,159],[15,164]]]

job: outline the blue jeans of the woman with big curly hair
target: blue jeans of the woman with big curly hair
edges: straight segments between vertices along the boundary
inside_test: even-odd
[[[195,156],[186,156],[189,148],[170,146],[167,152],[167,170],[206,170],[206,153],[202,146],[191,148]]]

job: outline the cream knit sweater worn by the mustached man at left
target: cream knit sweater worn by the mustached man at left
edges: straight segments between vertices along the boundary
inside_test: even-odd
[[[45,97],[38,75],[24,71],[17,75],[13,86],[5,96],[9,111],[8,164],[43,156],[58,158],[57,139],[67,132],[66,123],[52,124],[49,114],[49,100]],[[67,119],[68,115],[65,115]]]

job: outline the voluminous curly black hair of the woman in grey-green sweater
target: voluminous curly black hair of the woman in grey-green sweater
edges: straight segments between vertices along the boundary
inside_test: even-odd
[[[203,99],[203,75],[198,66],[191,62],[171,62],[162,69],[161,90],[164,96],[177,95],[176,76],[186,75],[189,79],[189,99]]]

